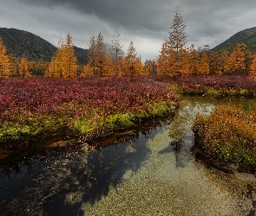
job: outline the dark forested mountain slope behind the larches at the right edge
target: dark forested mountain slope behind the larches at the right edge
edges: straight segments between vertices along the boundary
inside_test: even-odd
[[[255,52],[256,51],[256,27],[242,30],[235,35],[231,36],[226,41],[220,43],[218,46],[212,49],[212,51],[218,51],[226,47],[227,43],[230,43],[233,48],[237,43],[244,42],[246,49]]]

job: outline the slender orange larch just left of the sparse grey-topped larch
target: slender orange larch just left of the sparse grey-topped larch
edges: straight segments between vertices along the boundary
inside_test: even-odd
[[[107,51],[106,44],[104,42],[104,37],[100,32],[97,36],[96,46],[95,46],[95,73],[98,76],[102,76],[104,71],[104,64],[106,61]]]

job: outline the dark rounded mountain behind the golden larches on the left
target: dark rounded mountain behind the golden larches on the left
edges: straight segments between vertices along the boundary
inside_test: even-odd
[[[0,37],[10,56],[24,57],[28,60],[50,61],[56,52],[56,47],[49,41],[30,32],[19,29],[0,28]],[[77,63],[84,65],[87,62],[88,49],[75,47]]]

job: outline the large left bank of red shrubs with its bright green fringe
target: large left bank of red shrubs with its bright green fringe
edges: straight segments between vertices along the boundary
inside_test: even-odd
[[[0,90],[0,143],[55,134],[88,139],[174,113],[179,96],[144,77],[8,79]]]

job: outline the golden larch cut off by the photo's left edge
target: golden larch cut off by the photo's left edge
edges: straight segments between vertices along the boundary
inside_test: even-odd
[[[10,59],[0,37],[0,79],[8,79],[10,76]]]

